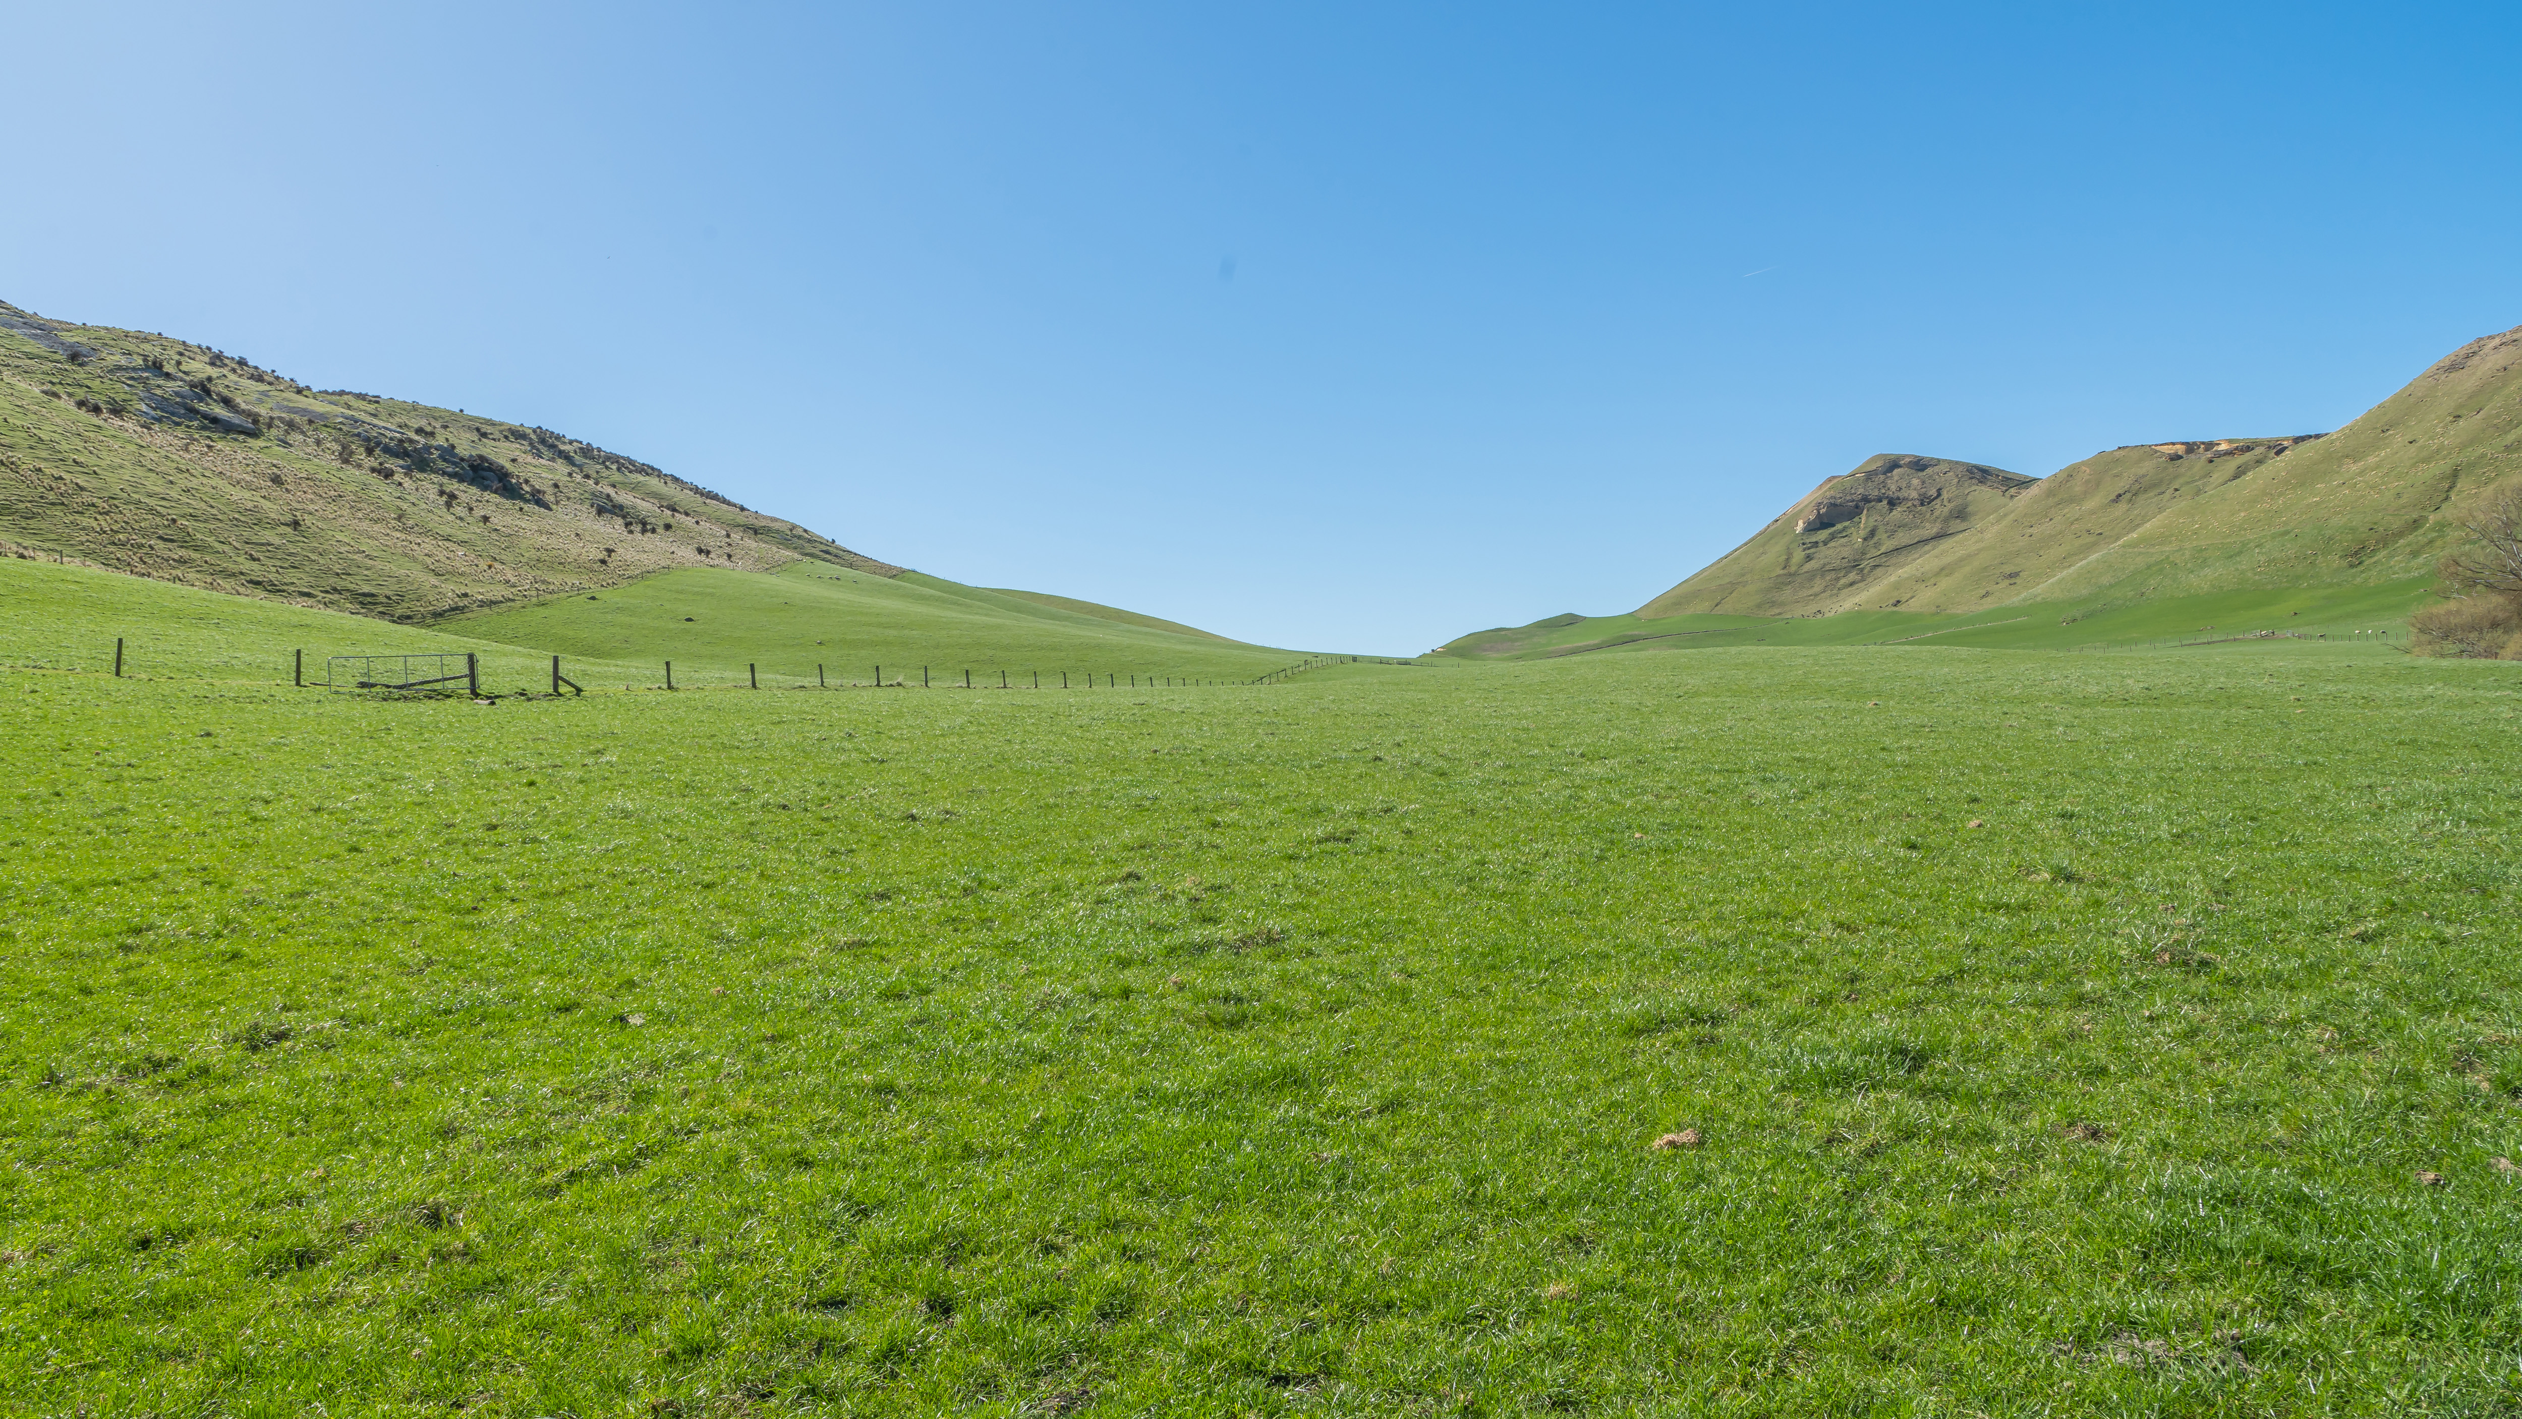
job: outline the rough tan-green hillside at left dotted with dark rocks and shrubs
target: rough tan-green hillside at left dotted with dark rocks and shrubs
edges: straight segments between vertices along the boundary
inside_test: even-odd
[[[895,570],[547,428],[13,305],[0,549],[393,620],[668,567]]]

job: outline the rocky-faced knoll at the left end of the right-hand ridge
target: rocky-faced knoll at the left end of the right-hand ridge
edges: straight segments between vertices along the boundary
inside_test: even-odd
[[[1876,454],[1823,479],[1748,542],[1637,615],[1813,615],[1997,517],[2033,479],[1914,454]]]

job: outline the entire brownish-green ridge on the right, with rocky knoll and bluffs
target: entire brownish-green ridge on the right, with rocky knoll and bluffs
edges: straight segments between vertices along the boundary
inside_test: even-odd
[[[1637,615],[1972,612],[2403,582],[2517,474],[2522,328],[2461,345],[2325,436],[2131,444],[2048,479],[1876,456]]]

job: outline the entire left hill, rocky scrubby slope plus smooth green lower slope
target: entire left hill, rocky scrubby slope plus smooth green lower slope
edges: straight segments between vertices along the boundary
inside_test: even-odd
[[[550,428],[315,391],[187,340],[68,325],[5,302],[0,554],[406,625],[522,607],[517,625],[570,625],[552,650],[605,643],[653,660],[681,648],[691,663],[706,650],[691,653],[663,628],[628,645],[618,615],[578,628],[545,602],[575,607],[658,575],[719,572],[704,577],[716,635],[731,635],[731,607],[769,618],[736,635],[747,645],[729,640],[721,658],[741,663],[799,640],[779,607],[802,582],[724,575],[810,565],[825,582],[863,585],[850,607],[822,610],[895,660],[910,645],[986,653],[989,663],[1095,650],[1122,675],[1246,658],[1258,673],[1286,660],[1120,607],[921,577]],[[671,580],[628,600],[676,600],[691,585]]]

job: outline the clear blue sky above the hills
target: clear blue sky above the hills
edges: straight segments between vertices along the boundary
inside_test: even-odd
[[[2522,323],[2522,8],[13,5],[0,300],[1322,650]]]

